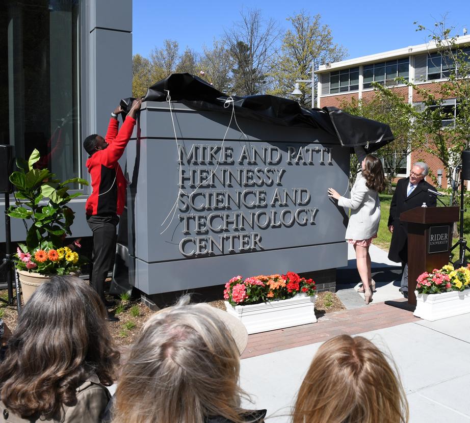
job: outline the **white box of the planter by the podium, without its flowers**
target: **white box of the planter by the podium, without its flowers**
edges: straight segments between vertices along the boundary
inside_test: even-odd
[[[445,319],[459,314],[470,313],[470,289],[441,294],[416,295],[416,309],[413,315],[424,320]]]

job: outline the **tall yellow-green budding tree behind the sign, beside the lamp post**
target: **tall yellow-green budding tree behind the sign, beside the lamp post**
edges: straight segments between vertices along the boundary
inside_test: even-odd
[[[283,37],[280,54],[275,58],[270,75],[274,88],[270,93],[280,97],[291,97],[296,80],[311,80],[312,64],[314,69],[327,62],[337,62],[347,56],[345,47],[334,44],[331,30],[321,23],[321,16],[310,16],[301,11],[287,18],[292,29]],[[302,96],[298,97],[300,105],[311,107],[311,85],[301,85]],[[315,92],[317,78],[315,77]]]

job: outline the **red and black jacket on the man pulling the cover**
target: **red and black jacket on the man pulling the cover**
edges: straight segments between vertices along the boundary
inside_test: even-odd
[[[119,122],[110,119],[105,141],[109,144],[87,160],[93,192],[85,206],[87,215],[121,215],[124,209],[126,180],[118,160],[129,142],[136,120],[127,116],[118,132]]]

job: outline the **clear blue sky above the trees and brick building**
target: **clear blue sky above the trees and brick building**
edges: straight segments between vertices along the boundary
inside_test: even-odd
[[[288,28],[286,17],[305,9],[311,15],[320,13],[323,23],[332,31],[333,39],[348,49],[349,58],[394,50],[426,42],[425,34],[415,32],[413,21],[431,27],[447,14],[447,21],[462,35],[470,34],[470,2],[468,1],[385,1],[346,2],[289,0],[232,1],[133,1],[133,53],[148,57],[150,50],[161,47],[164,39],[176,40],[181,52],[186,46],[201,52],[202,45],[211,46],[220,39],[224,28],[240,19],[240,10],[260,9],[264,17],[272,17]]]

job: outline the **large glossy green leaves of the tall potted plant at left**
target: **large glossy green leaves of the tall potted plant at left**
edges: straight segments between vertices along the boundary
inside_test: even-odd
[[[34,164],[39,158],[39,151],[34,149],[28,162],[17,159],[19,170],[10,175],[17,201],[8,209],[8,215],[32,221],[26,237],[28,251],[37,249],[41,243],[47,243],[45,246],[49,248],[62,246],[63,236],[71,235],[70,226],[74,219],[74,212],[67,203],[75,195],[68,193],[67,184],[88,185],[81,178],[60,182],[49,170],[35,169]]]

